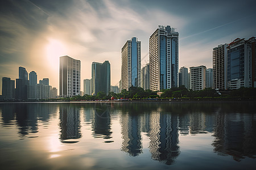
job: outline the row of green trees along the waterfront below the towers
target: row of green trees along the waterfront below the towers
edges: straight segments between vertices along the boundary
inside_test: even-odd
[[[46,99],[47,101],[94,101],[94,100],[112,100],[112,99],[256,99],[256,88],[240,88],[237,90],[226,90],[218,92],[212,88],[205,88],[200,91],[188,90],[185,86],[172,87],[170,89],[161,90],[162,94],[159,96],[157,92],[151,90],[143,90],[141,87],[130,87],[129,91],[123,89],[120,93],[98,92],[97,95],[84,95],[65,97],[59,99]]]

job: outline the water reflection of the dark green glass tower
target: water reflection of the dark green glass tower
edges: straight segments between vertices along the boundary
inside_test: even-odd
[[[112,138],[110,128],[110,106],[108,103],[96,103],[94,107],[94,120],[92,122],[94,138]],[[113,142],[113,141],[106,141]]]

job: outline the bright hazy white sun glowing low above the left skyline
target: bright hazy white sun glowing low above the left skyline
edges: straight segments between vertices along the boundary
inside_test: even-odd
[[[49,65],[53,68],[59,68],[59,58],[67,55],[67,50],[61,41],[49,38],[46,45],[46,55]]]

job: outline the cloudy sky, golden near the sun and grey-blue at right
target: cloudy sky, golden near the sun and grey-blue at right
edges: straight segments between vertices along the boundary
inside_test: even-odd
[[[81,91],[92,62],[108,60],[111,84],[119,85],[121,48],[137,37],[146,65],[158,25],[179,32],[179,68],[212,68],[214,47],[256,37],[255,9],[255,0],[1,0],[0,93],[2,77],[15,80],[19,66],[59,90],[59,57],[66,55],[81,61]]]

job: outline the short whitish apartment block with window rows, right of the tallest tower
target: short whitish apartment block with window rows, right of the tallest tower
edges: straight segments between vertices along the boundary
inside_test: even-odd
[[[206,67],[189,67],[190,69],[190,88],[192,90],[204,90]]]

